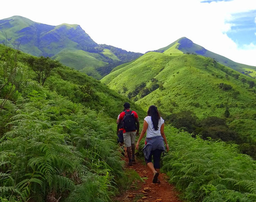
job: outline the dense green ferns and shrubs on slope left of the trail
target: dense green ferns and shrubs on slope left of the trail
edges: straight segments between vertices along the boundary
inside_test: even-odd
[[[63,66],[42,86],[26,54],[0,49],[0,200],[111,201],[129,181],[111,118],[127,100]]]

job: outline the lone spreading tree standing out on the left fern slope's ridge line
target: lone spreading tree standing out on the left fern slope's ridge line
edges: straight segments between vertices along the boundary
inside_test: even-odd
[[[49,57],[45,58],[43,56],[39,58],[28,57],[25,61],[36,73],[37,81],[38,83],[41,83],[42,86],[44,85],[46,78],[50,75],[50,72],[54,68],[61,66],[59,61],[52,60]]]

